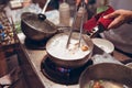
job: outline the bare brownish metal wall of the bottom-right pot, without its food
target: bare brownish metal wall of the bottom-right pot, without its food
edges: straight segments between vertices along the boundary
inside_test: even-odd
[[[112,63],[92,65],[81,74],[79,88],[88,88],[90,80],[110,80],[132,88],[132,69]]]

